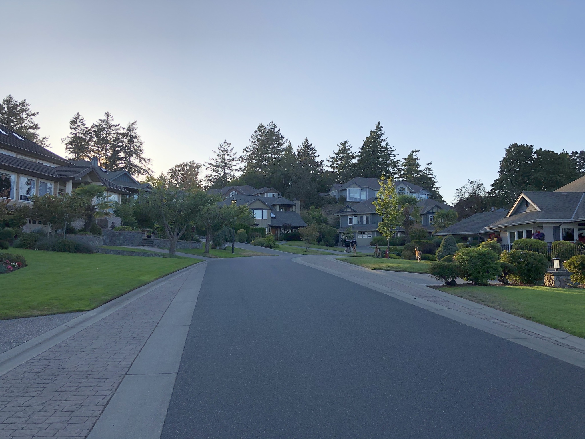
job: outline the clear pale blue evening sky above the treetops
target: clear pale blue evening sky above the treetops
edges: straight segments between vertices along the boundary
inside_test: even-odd
[[[585,4],[572,1],[4,1],[0,95],[56,153],[68,121],[138,121],[157,173],[238,152],[274,121],[321,158],[379,120],[446,200],[510,143],[583,145]]]

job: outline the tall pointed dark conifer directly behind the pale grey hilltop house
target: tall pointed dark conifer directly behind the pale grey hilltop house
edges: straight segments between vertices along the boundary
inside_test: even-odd
[[[397,173],[397,154],[384,135],[383,126],[378,122],[357,153],[356,177],[379,179],[382,174],[394,176]]]

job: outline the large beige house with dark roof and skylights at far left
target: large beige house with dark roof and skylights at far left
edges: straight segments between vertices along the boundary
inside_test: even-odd
[[[0,125],[0,197],[9,205],[31,203],[33,196],[71,194],[81,184],[104,186],[109,201],[150,190],[128,172],[108,172],[95,162],[72,162]],[[119,225],[119,218],[110,218]],[[30,219],[29,225],[40,225]]]

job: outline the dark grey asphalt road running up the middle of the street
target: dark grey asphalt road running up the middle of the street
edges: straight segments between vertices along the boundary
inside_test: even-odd
[[[162,438],[583,438],[585,371],[279,258],[210,263]]]

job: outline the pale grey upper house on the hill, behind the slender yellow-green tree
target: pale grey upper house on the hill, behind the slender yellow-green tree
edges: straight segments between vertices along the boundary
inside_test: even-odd
[[[408,181],[394,181],[398,195],[411,195],[417,197],[417,200],[426,200],[431,196],[431,193],[423,187]],[[326,195],[335,197],[339,201],[339,197],[345,197],[345,201],[349,203],[361,203],[376,197],[380,191],[380,179],[366,179],[356,177],[347,181],[345,184],[333,184],[329,193]]]

